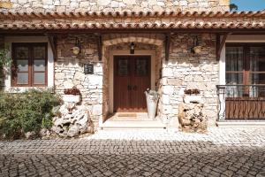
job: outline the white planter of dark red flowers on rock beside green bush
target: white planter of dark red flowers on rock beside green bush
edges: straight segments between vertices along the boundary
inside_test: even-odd
[[[72,89],[64,89],[64,102],[68,103],[79,103],[80,102],[80,90],[76,87],[72,87]]]

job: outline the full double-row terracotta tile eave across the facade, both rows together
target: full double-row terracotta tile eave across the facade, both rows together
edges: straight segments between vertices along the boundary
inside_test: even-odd
[[[132,18],[126,18],[129,20],[121,22],[123,17]],[[265,12],[48,12],[45,14],[0,12],[0,29],[5,30],[103,28],[263,29]]]

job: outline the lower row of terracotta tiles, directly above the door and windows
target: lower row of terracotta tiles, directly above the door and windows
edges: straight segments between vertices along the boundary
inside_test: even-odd
[[[96,28],[265,28],[264,23],[209,23],[209,22],[186,22],[186,23],[89,23],[89,24],[77,24],[77,23],[51,23],[51,24],[0,24],[2,29],[96,29]]]

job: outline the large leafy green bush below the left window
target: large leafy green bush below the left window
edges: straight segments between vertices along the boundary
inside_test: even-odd
[[[52,109],[58,104],[59,98],[49,91],[1,93],[0,137],[18,139],[27,132],[38,135],[42,128],[52,126]]]

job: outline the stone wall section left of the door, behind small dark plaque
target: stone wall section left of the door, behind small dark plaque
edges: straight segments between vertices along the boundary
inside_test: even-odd
[[[81,43],[81,53],[72,54],[76,37]],[[60,35],[57,39],[58,58],[55,62],[55,89],[64,95],[64,89],[77,87],[93,119],[102,117],[102,62],[98,60],[95,35]],[[95,65],[94,74],[83,73],[83,64]]]

